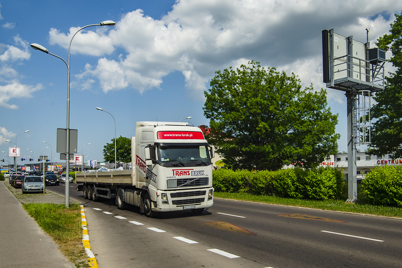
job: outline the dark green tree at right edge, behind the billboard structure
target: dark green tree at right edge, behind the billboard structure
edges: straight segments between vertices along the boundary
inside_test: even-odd
[[[393,154],[402,157],[402,12],[395,14],[390,34],[377,39],[376,45],[385,49],[388,62],[392,62],[396,72],[390,72],[385,79],[385,89],[375,93],[377,104],[371,109],[371,118],[376,121],[371,128],[370,155]],[[392,55],[390,55],[391,53]]]

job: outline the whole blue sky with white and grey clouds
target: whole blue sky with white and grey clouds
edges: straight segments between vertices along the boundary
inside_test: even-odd
[[[31,43],[67,62],[78,29],[115,21],[81,30],[70,49],[70,129],[78,130],[79,154],[102,161],[115,134],[109,113],[117,137],[135,136],[137,121],[191,116],[183,122],[208,125],[203,92],[215,71],[250,60],[325,88],[322,30],[365,43],[369,27],[374,47],[401,10],[400,0],[0,0],[0,151],[14,146],[10,140],[23,158],[60,161],[56,129],[66,128],[68,70]],[[339,114],[339,152],[347,151],[346,97],[327,93]]]

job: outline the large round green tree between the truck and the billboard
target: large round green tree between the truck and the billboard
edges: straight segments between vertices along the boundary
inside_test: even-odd
[[[203,107],[207,138],[233,169],[312,167],[337,153],[338,115],[327,108],[324,89],[302,90],[295,74],[253,61],[215,72],[210,85]]]

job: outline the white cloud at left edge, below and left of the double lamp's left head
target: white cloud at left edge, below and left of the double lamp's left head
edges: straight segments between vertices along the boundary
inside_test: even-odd
[[[31,93],[42,89],[41,84],[36,86],[22,85],[19,82],[12,82],[8,85],[0,85],[0,107],[7,109],[18,109],[15,104],[8,104],[7,102],[13,98],[32,98]]]

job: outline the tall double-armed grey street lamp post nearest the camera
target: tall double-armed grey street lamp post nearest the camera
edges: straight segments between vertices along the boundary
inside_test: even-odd
[[[90,26],[113,26],[116,23],[114,21],[103,21],[99,24],[92,24],[92,25],[86,25],[76,31],[74,35],[70,39],[70,43],[68,44],[68,63],[60,58],[59,56],[55,54],[51,54],[49,50],[47,50],[45,47],[38,45],[36,43],[31,44],[31,47],[36,50],[40,50],[42,52],[45,52],[47,54],[50,54],[52,56],[55,56],[56,58],[61,59],[66,65],[67,65],[67,126],[66,126],[66,189],[65,189],[65,205],[66,208],[70,207],[70,181],[68,179],[68,175],[70,173],[70,46],[71,42],[73,41],[74,36],[81,31],[82,29]]]

